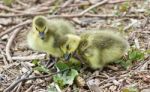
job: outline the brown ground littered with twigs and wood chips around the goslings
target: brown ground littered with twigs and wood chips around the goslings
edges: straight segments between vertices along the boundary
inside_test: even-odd
[[[31,20],[36,15],[65,18],[73,23],[78,34],[89,29],[118,30],[131,48],[145,52],[143,59],[127,69],[112,64],[99,71],[85,69],[83,65],[79,71],[83,85],[67,85],[62,92],[150,91],[149,0],[1,0],[0,91],[47,92],[53,82],[52,75],[32,71],[31,61],[42,62],[46,57],[45,53],[29,49],[26,43]]]

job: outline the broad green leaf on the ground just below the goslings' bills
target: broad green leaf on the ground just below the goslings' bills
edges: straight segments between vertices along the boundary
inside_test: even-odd
[[[76,66],[76,64],[75,65],[74,64],[72,62],[72,59],[69,62],[63,62],[60,60],[55,64],[58,71],[66,70],[64,72],[58,73],[53,76],[53,81],[56,84],[58,84],[59,87],[63,88],[66,85],[73,84],[75,77],[78,75],[78,71],[75,69],[78,66]],[[73,67],[73,66],[75,66],[75,67]]]

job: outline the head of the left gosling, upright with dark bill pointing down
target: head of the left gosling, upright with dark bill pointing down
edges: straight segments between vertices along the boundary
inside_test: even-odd
[[[44,40],[48,31],[47,19],[44,16],[36,16],[33,19],[32,28],[39,37]]]

